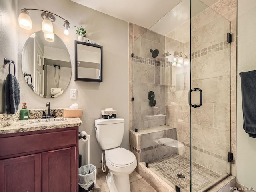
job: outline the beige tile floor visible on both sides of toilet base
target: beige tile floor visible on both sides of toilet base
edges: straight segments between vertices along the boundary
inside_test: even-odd
[[[103,173],[97,176],[96,183],[100,186],[100,189],[94,189],[94,192],[109,192],[106,174]],[[131,192],[156,192],[135,170],[129,177]]]

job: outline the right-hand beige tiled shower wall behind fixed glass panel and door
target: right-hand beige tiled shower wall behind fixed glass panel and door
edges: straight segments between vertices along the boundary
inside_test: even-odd
[[[234,124],[235,116],[234,106],[230,106],[228,66],[230,49],[226,42],[226,33],[229,28],[225,26],[227,22],[213,9],[220,13],[223,13],[223,10],[228,11],[224,15],[232,20],[236,2],[221,0],[192,18],[192,87],[200,87],[204,91],[203,106],[192,108],[192,160],[220,174],[225,174],[228,172],[226,169],[228,167],[227,153],[230,151],[230,118]],[[234,21],[232,29],[233,25]],[[212,30],[213,28],[214,30]],[[167,34],[166,51],[170,53],[183,52],[187,55],[190,34],[185,32],[189,30],[190,23],[185,22]],[[236,38],[236,34],[234,34],[234,38]],[[231,46],[233,47],[235,43],[234,40]],[[231,50],[233,62],[231,70],[234,72],[235,49],[231,48]],[[189,88],[186,88],[189,87],[189,82],[187,82],[190,75],[189,70],[188,66],[176,68],[166,65],[166,77],[171,78],[171,81],[166,80],[166,124],[177,128],[178,140],[186,144],[183,154],[186,158],[190,157],[190,114],[187,104]],[[184,77],[184,90],[177,90],[176,80],[179,79],[177,75]],[[232,76],[231,94],[234,94],[234,79]],[[170,83],[168,84],[168,82]],[[214,88],[218,88],[220,92],[216,92]],[[231,96],[232,103],[234,95]],[[196,97],[199,98],[199,96]],[[230,107],[232,117],[230,117]],[[234,140],[232,140],[232,144],[234,144]],[[234,152],[234,146],[232,146],[232,152]]]

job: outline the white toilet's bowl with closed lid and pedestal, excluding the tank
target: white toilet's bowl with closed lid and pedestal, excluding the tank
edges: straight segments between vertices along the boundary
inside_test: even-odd
[[[105,160],[109,170],[106,182],[110,192],[130,192],[129,174],[137,166],[134,154],[118,147],[105,150]]]

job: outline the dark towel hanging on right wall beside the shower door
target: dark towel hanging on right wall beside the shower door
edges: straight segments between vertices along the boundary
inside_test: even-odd
[[[244,130],[256,138],[256,70],[241,72]]]

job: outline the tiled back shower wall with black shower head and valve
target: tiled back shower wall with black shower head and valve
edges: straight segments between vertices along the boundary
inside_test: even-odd
[[[133,27],[132,57],[132,129],[143,129],[165,124],[165,86],[164,86],[164,36],[151,30],[144,31],[137,25]],[[140,32],[144,32],[142,35]],[[151,50],[158,49],[156,58]],[[155,94],[156,105],[150,107],[148,92]],[[159,115],[162,114],[162,115]],[[154,116],[158,115],[158,116]]]

